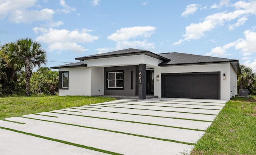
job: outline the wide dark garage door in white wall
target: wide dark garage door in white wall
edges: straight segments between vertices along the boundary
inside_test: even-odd
[[[220,72],[162,74],[161,97],[220,99]]]

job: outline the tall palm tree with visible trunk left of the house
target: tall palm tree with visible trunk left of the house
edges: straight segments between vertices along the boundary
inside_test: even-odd
[[[9,43],[8,62],[10,66],[19,64],[25,67],[26,93],[30,95],[30,78],[32,69],[46,64],[46,52],[41,48],[38,42],[30,38],[20,39],[16,42]]]

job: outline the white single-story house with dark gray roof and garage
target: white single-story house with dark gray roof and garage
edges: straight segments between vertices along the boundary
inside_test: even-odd
[[[125,49],[75,58],[59,69],[59,95],[224,99],[237,94],[239,60]]]

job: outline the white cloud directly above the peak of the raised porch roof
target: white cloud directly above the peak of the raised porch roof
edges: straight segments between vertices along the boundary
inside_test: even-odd
[[[108,39],[116,42],[116,50],[124,48],[155,48],[154,43],[146,40],[154,33],[154,30],[156,30],[156,27],[153,26],[121,28],[108,36]]]

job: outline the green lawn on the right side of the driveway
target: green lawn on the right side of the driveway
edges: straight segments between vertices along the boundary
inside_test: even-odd
[[[228,101],[191,155],[256,154],[256,96]]]

